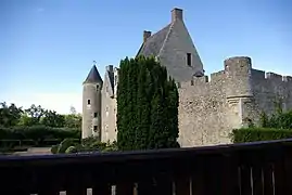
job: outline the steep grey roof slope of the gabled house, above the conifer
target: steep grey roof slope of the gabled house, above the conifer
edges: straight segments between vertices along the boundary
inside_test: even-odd
[[[147,41],[142,43],[141,48],[138,51],[137,56],[138,55],[157,56],[163,47],[163,43],[165,42],[165,39],[167,38],[170,27],[172,27],[172,24],[167,25],[166,27],[164,27],[156,34],[149,37]]]

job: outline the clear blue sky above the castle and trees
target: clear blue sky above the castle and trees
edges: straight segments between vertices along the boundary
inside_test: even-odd
[[[0,0],[0,102],[81,112],[92,61],[103,77],[175,6],[207,74],[249,55],[254,68],[292,75],[292,0]]]

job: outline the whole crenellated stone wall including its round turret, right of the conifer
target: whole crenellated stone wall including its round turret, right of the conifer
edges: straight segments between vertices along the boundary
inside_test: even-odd
[[[254,122],[275,102],[292,108],[292,77],[256,70],[250,57],[231,57],[225,69],[180,83],[179,143],[198,146],[230,143],[229,133]]]

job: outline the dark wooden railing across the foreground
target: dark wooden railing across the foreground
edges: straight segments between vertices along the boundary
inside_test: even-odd
[[[292,140],[0,157],[0,195],[291,195]],[[90,194],[91,194],[90,193]]]

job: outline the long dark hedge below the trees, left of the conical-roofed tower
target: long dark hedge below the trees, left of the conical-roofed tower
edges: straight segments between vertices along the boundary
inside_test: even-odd
[[[67,128],[50,128],[43,126],[34,127],[0,127],[0,142],[7,141],[31,141],[34,145],[38,145],[45,140],[64,140],[66,138],[80,139],[81,131],[79,129]]]

